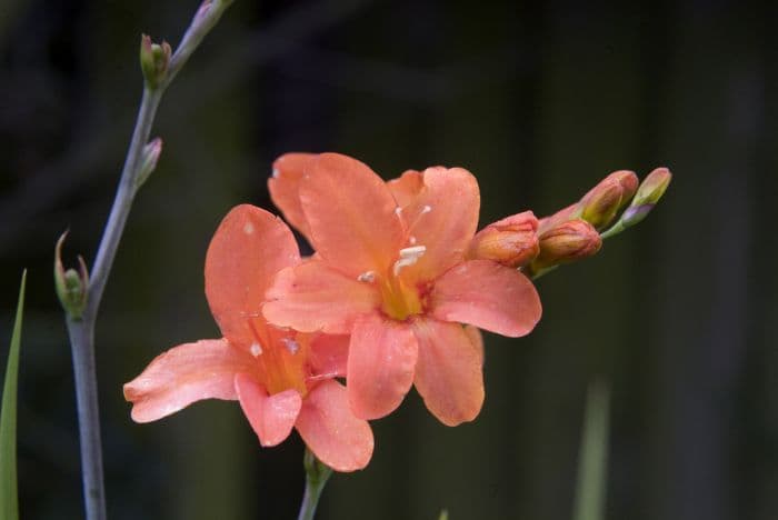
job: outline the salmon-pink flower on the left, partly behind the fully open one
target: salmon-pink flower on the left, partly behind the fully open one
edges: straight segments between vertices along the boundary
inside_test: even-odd
[[[248,204],[232,209],[206,258],[206,296],[225,337],[174,347],[124,384],[132,419],[161,419],[201,399],[238,400],[262,446],[296,428],[329,467],[367,466],[370,426],[352,414],[335,380],[345,376],[348,337],[281,329],[260,312],[276,273],[299,263],[280,219]]]

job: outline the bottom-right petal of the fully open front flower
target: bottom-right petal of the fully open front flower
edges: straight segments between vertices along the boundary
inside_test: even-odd
[[[473,420],[483,406],[483,351],[459,323],[418,320],[416,389],[440,422],[457,426]]]

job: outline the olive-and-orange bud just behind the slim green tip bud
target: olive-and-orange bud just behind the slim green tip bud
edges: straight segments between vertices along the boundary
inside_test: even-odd
[[[579,202],[580,218],[597,229],[608,226],[638,189],[632,171],[615,171],[589,190]]]

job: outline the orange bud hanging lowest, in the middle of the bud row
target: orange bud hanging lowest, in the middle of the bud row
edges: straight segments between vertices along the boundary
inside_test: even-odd
[[[531,264],[532,271],[591,257],[601,246],[600,234],[589,222],[569,220],[540,236],[540,253]]]

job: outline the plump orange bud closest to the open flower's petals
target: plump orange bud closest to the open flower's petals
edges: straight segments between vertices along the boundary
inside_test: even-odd
[[[522,267],[540,250],[537,230],[538,219],[531,211],[498,220],[472,238],[467,257],[492,260],[510,268]]]

